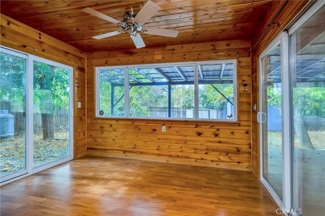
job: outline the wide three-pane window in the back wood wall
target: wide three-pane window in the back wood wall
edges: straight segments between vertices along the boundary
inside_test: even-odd
[[[236,65],[96,67],[96,116],[236,121]]]

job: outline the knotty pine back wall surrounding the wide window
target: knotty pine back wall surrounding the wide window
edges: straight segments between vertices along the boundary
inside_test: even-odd
[[[251,170],[250,40],[87,53],[87,155]],[[96,66],[237,59],[238,121],[95,118]],[[248,92],[242,91],[247,83]],[[166,132],[161,132],[161,126]]]

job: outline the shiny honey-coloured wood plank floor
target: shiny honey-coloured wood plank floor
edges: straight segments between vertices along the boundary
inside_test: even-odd
[[[248,171],[86,156],[1,187],[1,215],[278,215]]]

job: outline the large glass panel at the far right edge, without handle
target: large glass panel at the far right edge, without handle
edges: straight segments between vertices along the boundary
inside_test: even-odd
[[[292,200],[302,215],[325,212],[325,7],[290,35]]]

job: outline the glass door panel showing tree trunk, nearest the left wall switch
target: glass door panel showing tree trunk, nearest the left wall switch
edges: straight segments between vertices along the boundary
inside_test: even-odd
[[[69,74],[34,61],[34,168],[70,156]]]

